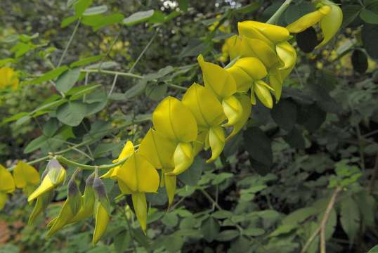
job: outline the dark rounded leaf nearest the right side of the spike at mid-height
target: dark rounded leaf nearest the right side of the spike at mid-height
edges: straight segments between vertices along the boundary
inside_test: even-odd
[[[282,99],[271,110],[271,115],[280,128],[290,131],[296,122],[296,105],[291,100]]]

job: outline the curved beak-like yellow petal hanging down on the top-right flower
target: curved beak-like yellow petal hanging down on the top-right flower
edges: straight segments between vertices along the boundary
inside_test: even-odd
[[[341,11],[341,8],[339,6],[332,3],[331,1],[323,0],[322,3],[329,4],[328,6],[330,7],[330,12],[327,13],[322,18],[322,20],[320,20],[320,29],[322,30],[323,40],[315,48],[320,48],[320,46],[324,46],[325,44],[327,44],[328,41],[330,41],[330,39],[334,37],[334,34],[337,33],[341,26],[341,23],[343,22],[343,12]]]

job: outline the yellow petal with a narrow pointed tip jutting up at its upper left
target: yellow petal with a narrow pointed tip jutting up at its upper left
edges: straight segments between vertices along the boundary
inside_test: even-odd
[[[219,65],[204,61],[202,55],[198,56],[197,60],[202,68],[205,87],[221,98],[227,98],[236,92],[236,84],[230,73]]]

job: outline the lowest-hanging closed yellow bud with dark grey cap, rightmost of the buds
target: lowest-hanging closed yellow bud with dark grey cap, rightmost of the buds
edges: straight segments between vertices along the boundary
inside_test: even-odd
[[[107,197],[105,185],[97,176],[93,179],[93,190],[96,195],[94,209],[95,229],[93,232],[92,245],[95,246],[106,231],[110,220],[110,203]]]

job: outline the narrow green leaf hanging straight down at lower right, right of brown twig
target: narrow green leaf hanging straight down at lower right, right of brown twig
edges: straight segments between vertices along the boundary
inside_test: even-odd
[[[360,228],[360,211],[351,196],[341,201],[340,221],[341,227],[348,235],[349,242],[353,243]]]

